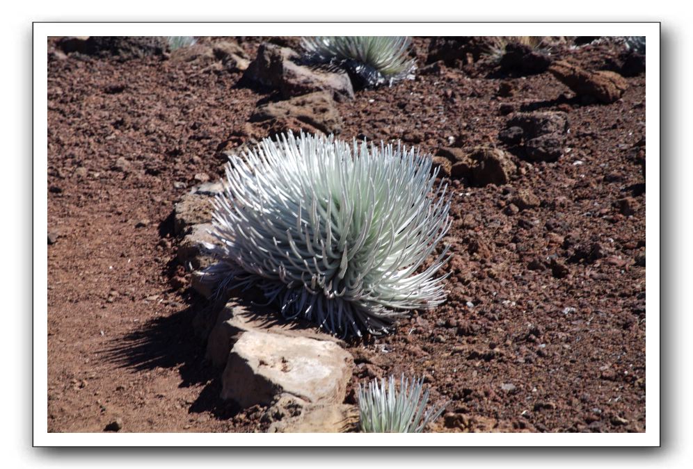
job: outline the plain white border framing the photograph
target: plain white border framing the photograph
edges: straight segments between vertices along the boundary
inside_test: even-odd
[[[49,433],[47,401],[47,39],[87,35],[589,35],[645,36],[646,431],[612,434]],[[34,446],[660,446],[660,23],[658,22],[35,22],[33,24],[33,445]],[[308,443],[308,444],[307,444]]]

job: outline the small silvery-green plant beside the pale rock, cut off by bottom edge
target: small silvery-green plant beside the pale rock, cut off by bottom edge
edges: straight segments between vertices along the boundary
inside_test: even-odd
[[[358,408],[361,431],[366,433],[421,433],[443,413],[426,410],[429,390],[423,390],[423,379],[404,379],[395,386],[395,377],[388,381],[374,379],[367,386],[358,385]]]

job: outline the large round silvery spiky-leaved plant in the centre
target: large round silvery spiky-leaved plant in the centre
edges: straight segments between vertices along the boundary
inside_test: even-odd
[[[383,334],[407,310],[445,301],[447,185],[433,191],[431,157],[331,135],[266,138],[226,167],[205,270],[224,288],[258,286],[283,315],[333,334]]]

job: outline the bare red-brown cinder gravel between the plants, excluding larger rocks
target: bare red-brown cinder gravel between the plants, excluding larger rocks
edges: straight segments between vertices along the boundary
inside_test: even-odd
[[[241,45],[252,57],[260,42]],[[415,40],[420,59],[428,42]],[[594,67],[613,52],[553,54]],[[465,149],[498,145],[502,104],[563,110],[570,122],[571,151],[556,163],[518,158],[505,186],[452,181],[449,299],[350,345],[351,389],[423,375],[431,400],[449,402],[436,431],[644,431],[644,74],[628,78],[621,100],[582,105],[548,73],[496,72],[483,60],[443,67],[337,104],[342,138],[401,139],[431,154],[450,137]],[[240,77],[157,57],[49,59],[48,231],[59,235],[48,254],[49,431],[103,431],[117,419],[120,431],[262,429],[262,408],[218,398],[219,370],[191,333],[207,305],[180,284],[170,216],[200,174],[221,177],[218,145],[274,99]],[[497,95],[503,81],[513,97]],[[539,206],[509,208],[519,189]],[[617,202],[627,197],[630,211]],[[529,268],[548,258],[559,267]]]

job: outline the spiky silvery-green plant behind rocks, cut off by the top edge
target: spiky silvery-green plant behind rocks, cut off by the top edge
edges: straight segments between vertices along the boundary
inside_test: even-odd
[[[413,79],[416,69],[408,36],[313,36],[301,45],[308,63],[342,68],[360,88]]]

